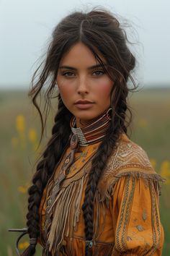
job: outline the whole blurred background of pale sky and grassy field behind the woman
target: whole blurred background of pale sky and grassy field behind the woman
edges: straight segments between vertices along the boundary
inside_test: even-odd
[[[27,188],[35,161],[50,137],[57,106],[54,102],[46,136],[37,150],[40,119],[27,96],[32,74],[48,48],[53,27],[67,14],[92,7],[104,7],[117,15],[138,61],[133,74],[138,92],[129,97],[131,138],[166,178],[160,213],[165,231],[163,255],[170,255],[169,1],[0,0],[0,256],[16,255],[17,234],[7,229],[25,226]],[[22,239],[21,250],[27,241],[27,237]]]

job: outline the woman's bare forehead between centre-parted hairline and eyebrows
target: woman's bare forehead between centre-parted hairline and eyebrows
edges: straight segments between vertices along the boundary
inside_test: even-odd
[[[102,56],[99,57],[104,61]],[[60,66],[68,65],[71,67],[90,67],[99,64],[99,61],[95,58],[91,50],[84,45],[84,43],[76,43],[69,51],[64,54],[61,59]]]

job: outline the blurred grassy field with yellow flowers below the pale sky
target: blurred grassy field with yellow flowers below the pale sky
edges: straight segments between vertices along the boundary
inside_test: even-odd
[[[170,255],[170,88],[142,90],[130,97],[133,111],[131,138],[148,153],[158,173],[166,177],[161,195],[161,222],[165,231],[164,256]],[[55,108],[55,106],[54,106]],[[40,138],[40,120],[26,91],[0,91],[0,256],[13,256],[17,234],[27,213],[27,187],[34,172]],[[48,122],[48,130],[52,121]],[[48,140],[49,132],[47,138]],[[22,239],[20,249],[27,246]],[[39,249],[40,251],[40,249]],[[40,252],[37,252],[40,255]]]

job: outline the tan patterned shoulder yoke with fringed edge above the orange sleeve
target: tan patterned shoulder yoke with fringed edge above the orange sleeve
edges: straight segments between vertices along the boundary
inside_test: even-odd
[[[146,151],[126,135],[121,135],[117,142],[117,148],[109,156],[99,180],[98,189],[101,195],[111,191],[115,183],[125,176],[157,182],[163,181],[151,166]]]

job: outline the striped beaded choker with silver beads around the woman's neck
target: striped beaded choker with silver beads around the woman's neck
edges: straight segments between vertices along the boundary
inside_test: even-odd
[[[73,135],[77,135],[80,146],[91,145],[102,140],[109,127],[110,110],[112,110],[112,108],[104,111],[104,113],[95,117],[89,124],[86,124],[81,128],[76,128],[75,117],[71,119],[71,131],[73,132]]]

